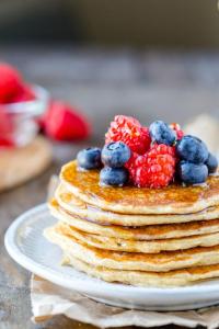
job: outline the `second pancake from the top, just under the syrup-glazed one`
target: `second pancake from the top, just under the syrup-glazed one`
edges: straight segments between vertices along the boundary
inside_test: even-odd
[[[182,215],[128,215],[116,214],[91,206],[60,184],[55,192],[59,205],[72,214],[103,225],[146,226],[155,224],[188,223],[219,218],[219,206],[209,207],[195,214]]]

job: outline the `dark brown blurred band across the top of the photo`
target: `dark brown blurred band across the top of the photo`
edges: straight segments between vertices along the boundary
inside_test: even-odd
[[[1,42],[218,47],[216,0],[1,0]]]

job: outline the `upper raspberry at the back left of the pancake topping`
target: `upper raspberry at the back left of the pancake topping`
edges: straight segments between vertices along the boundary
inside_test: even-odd
[[[116,115],[105,135],[105,143],[123,141],[139,155],[145,154],[151,143],[149,131],[131,116]]]

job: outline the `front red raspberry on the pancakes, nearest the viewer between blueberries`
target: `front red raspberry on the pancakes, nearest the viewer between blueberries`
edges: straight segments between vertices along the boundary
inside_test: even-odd
[[[146,155],[139,156],[135,161],[135,185],[152,189],[168,186],[173,180],[175,163],[173,147],[154,144]]]

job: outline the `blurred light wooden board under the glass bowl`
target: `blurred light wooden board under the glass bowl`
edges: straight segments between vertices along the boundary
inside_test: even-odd
[[[0,191],[41,174],[51,162],[51,146],[44,137],[16,149],[0,149]]]

